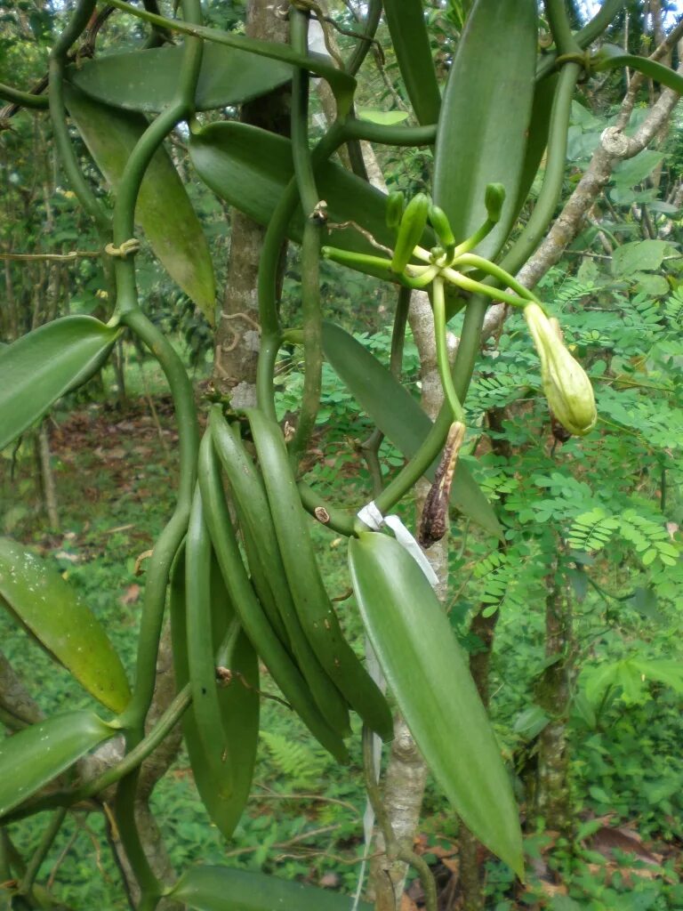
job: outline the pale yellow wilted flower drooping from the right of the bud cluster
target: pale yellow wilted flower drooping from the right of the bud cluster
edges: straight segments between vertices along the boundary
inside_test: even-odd
[[[537,303],[525,306],[525,320],[541,362],[541,381],[550,410],[571,434],[586,435],[596,425],[596,400],[586,371],[562,342],[556,320]]]

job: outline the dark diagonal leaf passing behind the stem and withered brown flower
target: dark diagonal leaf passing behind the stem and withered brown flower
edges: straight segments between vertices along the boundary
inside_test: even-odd
[[[322,350],[334,372],[382,434],[407,458],[414,455],[429,433],[432,421],[408,390],[367,348],[332,322],[323,323]],[[430,479],[438,464],[436,459],[427,473]],[[462,460],[455,469],[451,502],[492,535],[501,534],[494,507]]]

